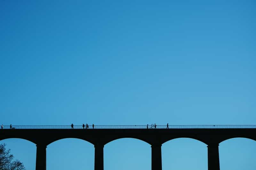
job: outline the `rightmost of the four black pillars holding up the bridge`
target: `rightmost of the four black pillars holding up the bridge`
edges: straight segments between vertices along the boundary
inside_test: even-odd
[[[208,170],[220,170],[219,144],[208,146]]]

